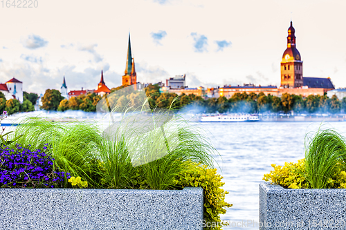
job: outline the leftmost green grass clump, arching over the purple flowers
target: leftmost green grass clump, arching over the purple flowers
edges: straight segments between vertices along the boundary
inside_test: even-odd
[[[44,144],[51,145],[55,167],[73,176],[81,176],[91,185],[97,186],[95,176],[98,174],[98,168],[95,153],[102,139],[95,124],[86,122],[64,124],[30,117],[17,126],[14,136],[21,136],[17,143],[32,150],[42,149]]]

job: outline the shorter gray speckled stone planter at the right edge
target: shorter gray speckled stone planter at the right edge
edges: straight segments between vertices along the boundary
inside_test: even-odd
[[[346,229],[346,189],[260,184],[260,229]]]

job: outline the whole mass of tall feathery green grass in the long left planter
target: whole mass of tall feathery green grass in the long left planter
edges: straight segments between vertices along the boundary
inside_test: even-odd
[[[127,111],[131,111],[127,109]],[[190,162],[212,167],[210,140],[171,110],[125,113],[103,133],[91,122],[24,119],[12,137],[30,149],[51,145],[55,167],[105,189],[174,189]],[[138,186],[143,182],[143,186]],[[65,181],[65,185],[68,183]]]

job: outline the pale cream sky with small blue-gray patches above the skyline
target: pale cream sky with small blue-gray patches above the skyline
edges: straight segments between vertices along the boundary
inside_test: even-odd
[[[10,0],[13,3],[13,0]],[[19,1],[15,1],[19,3]],[[18,5],[18,4],[17,4]],[[36,6],[36,7],[35,7]],[[346,87],[345,0],[35,0],[0,2],[0,83],[28,93],[121,85],[130,32],[137,81],[280,86],[293,21],[304,77]]]

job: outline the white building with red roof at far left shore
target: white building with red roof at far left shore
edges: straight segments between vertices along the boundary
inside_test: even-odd
[[[5,84],[0,84],[0,92],[5,95],[6,100],[17,99],[20,103],[23,103],[23,82],[13,77]]]

